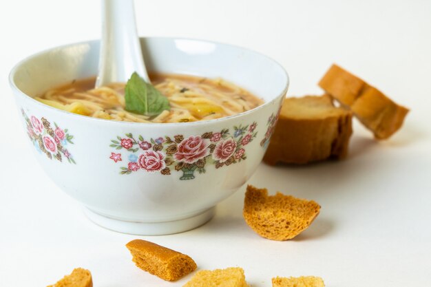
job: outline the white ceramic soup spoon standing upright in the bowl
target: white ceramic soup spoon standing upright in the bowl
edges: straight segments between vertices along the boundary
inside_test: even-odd
[[[133,72],[150,83],[136,31],[133,0],[102,0],[102,11],[96,87],[126,83]]]

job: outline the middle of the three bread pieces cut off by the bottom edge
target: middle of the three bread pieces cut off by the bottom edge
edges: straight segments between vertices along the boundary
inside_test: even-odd
[[[200,270],[183,287],[247,287],[244,270],[240,267]]]

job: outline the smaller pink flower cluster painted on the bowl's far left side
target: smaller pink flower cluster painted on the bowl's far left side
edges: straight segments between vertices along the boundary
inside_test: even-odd
[[[69,134],[67,129],[61,129],[56,123],[52,127],[50,121],[43,117],[30,116],[29,118],[23,109],[21,114],[25,120],[27,135],[40,153],[45,153],[51,160],[62,162],[65,158],[67,162],[76,164],[70,151],[65,149],[65,145],[74,143],[72,142],[74,136]]]

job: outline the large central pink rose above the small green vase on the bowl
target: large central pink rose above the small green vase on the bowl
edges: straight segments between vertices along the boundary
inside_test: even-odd
[[[174,154],[174,158],[178,162],[192,164],[209,155],[209,145],[210,142],[206,138],[189,136],[178,144],[178,151]]]

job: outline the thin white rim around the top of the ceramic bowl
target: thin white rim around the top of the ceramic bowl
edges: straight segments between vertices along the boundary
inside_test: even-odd
[[[64,111],[62,109],[56,109],[55,107],[51,107],[49,105],[45,105],[41,102],[39,102],[39,100],[35,100],[34,98],[32,98],[32,96],[29,96],[28,94],[25,94],[24,92],[21,91],[21,89],[19,89],[17,87],[17,85],[14,82],[14,75],[16,74],[17,70],[19,69],[19,67],[21,67],[21,65],[23,65],[24,63],[30,61],[31,59],[34,59],[38,56],[41,56],[42,54],[46,54],[52,50],[62,50],[65,49],[67,47],[73,47],[76,45],[83,45],[83,44],[94,44],[94,43],[98,43],[100,42],[100,40],[96,39],[96,40],[89,40],[89,41],[80,41],[80,42],[75,42],[75,43],[68,43],[65,45],[59,45],[59,46],[54,46],[54,47],[50,47],[44,50],[41,50],[39,52],[36,52],[34,54],[31,54],[30,56],[25,57],[24,59],[22,59],[21,61],[19,61],[18,63],[16,63],[14,65],[14,67],[12,67],[12,70],[10,70],[9,73],[9,85],[12,89],[12,91],[17,92],[17,94],[19,94],[20,96],[23,96],[24,98],[27,98],[28,100],[32,101],[32,103],[35,103],[36,105],[39,105],[42,108],[48,108],[48,109],[52,109],[56,112],[59,113],[63,113],[67,116],[77,116],[83,120],[96,120],[97,122],[104,122],[104,123],[109,123],[109,125],[139,125],[139,126],[154,126],[154,127],[158,127],[160,125],[162,126],[169,126],[169,127],[173,127],[173,126],[181,126],[181,127],[185,127],[185,126],[196,126],[196,125],[208,125],[211,123],[217,123],[220,122],[221,120],[230,120],[230,119],[234,119],[234,118],[240,118],[242,116],[245,116],[247,114],[252,114],[255,111],[258,111],[260,109],[263,109],[264,107],[266,107],[267,105],[270,105],[271,103],[273,103],[275,100],[277,100],[278,98],[280,98],[280,96],[285,95],[287,90],[288,90],[288,86],[290,84],[290,78],[288,76],[288,73],[286,72],[286,70],[284,69],[284,67],[278,63],[277,61],[275,61],[274,59],[272,59],[269,56],[266,56],[265,54],[262,54],[260,52],[256,52],[255,50],[251,50],[249,48],[246,47],[241,47],[240,45],[231,45],[231,44],[227,44],[227,43],[220,43],[217,41],[209,41],[209,40],[204,40],[204,39],[193,39],[193,38],[185,38],[185,37],[165,37],[165,36],[140,36],[139,37],[140,40],[142,39],[164,39],[164,40],[180,40],[180,41],[199,41],[202,43],[211,43],[211,44],[215,44],[215,45],[224,45],[224,46],[228,46],[228,47],[234,47],[234,48],[238,48],[241,50],[245,50],[247,52],[250,52],[251,54],[257,54],[259,56],[263,56],[265,59],[271,61],[272,63],[274,63],[275,65],[277,65],[278,67],[281,68],[281,71],[284,73],[284,76],[286,77],[286,84],[284,85],[284,88],[282,89],[282,92],[280,92],[280,94],[278,94],[277,96],[275,96],[272,100],[269,100],[267,102],[264,102],[262,105],[255,107],[254,109],[249,109],[248,111],[243,111],[240,114],[234,114],[231,116],[224,116],[222,118],[214,118],[211,120],[198,120],[196,122],[187,122],[187,123],[134,123],[134,122],[125,122],[125,121],[119,121],[119,120],[106,120],[103,118],[93,118],[92,116],[83,116],[80,114],[75,114],[72,113],[70,111]]]

